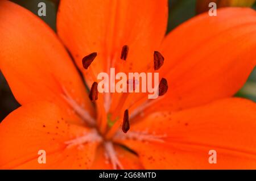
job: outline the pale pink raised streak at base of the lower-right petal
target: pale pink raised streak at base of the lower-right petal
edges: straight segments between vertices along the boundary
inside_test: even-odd
[[[129,132],[126,134],[123,134],[122,132],[117,132],[114,136],[114,139],[164,142],[163,138],[166,138],[166,137],[167,137],[167,134],[162,134],[162,135],[148,134],[147,131]]]

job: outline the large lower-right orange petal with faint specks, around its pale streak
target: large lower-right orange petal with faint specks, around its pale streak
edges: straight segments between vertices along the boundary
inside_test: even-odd
[[[255,120],[254,102],[222,99],[176,113],[156,112],[131,124],[130,133],[147,131],[164,142],[121,137],[119,142],[136,151],[146,169],[256,169]],[[209,150],[217,151],[216,164],[209,163]]]

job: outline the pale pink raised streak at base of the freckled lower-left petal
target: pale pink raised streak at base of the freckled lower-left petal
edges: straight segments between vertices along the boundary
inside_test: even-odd
[[[96,129],[93,129],[92,132],[85,133],[84,136],[77,137],[73,140],[65,141],[64,143],[67,146],[67,148],[71,148],[72,146],[81,146],[82,144],[85,144],[86,142],[101,142],[102,137],[98,134]]]

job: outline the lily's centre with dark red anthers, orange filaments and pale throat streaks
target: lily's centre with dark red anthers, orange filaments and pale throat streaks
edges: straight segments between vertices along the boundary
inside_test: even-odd
[[[124,45],[121,52],[121,60],[127,60],[129,52],[129,47]],[[93,70],[89,66],[93,63],[96,58],[97,53],[91,53],[88,56],[82,58],[82,65],[88,71],[93,79],[93,84],[89,92],[89,99],[96,105],[98,111],[97,118],[94,119],[90,116],[89,112],[82,108],[75,100],[71,98],[68,92],[63,87],[63,98],[68,102],[68,104],[73,108],[73,111],[79,115],[85,123],[91,127],[90,132],[85,132],[84,135],[77,137],[73,140],[65,142],[67,148],[72,146],[78,146],[81,148],[87,142],[100,142],[105,147],[105,157],[112,163],[114,169],[123,169],[121,163],[118,160],[117,154],[114,150],[114,140],[119,138],[121,140],[138,140],[138,141],[156,141],[163,142],[163,138],[166,135],[155,135],[148,134],[144,132],[135,132],[129,131],[130,126],[133,127],[133,124],[130,123],[130,120],[134,121],[134,118],[142,113],[146,108],[150,107],[155,102],[158,102],[163,98],[163,95],[166,94],[168,90],[167,80],[162,78],[158,85],[158,95],[162,96],[158,99],[146,99],[144,97],[139,97],[134,102],[142,102],[141,106],[138,106],[131,115],[129,116],[129,108],[127,106],[127,100],[131,93],[123,92],[120,96],[118,103],[115,103],[113,110],[110,110],[110,105],[112,103],[112,95],[110,93],[99,94],[97,87],[98,83]],[[159,52],[154,52],[154,70],[160,69],[163,65],[164,57]],[[153,66],[152,66],[153,67]],[[135,89],[136,80],[127,81],[127,89]],[[104,104],[102,104],[104,103]],[[133,122],[134,123],[134,122]],[[146,128],[145,128],[146,129]]]

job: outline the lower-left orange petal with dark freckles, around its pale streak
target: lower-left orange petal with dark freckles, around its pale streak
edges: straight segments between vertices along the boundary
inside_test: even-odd
[[[91,130],[69,124],[67,113],[55,104],[35,102],[10,113],[0,124],[1,169],[87,169],[97,142],[69,147],[66,141]],[[39,150],[46,163],[38,163]]]

